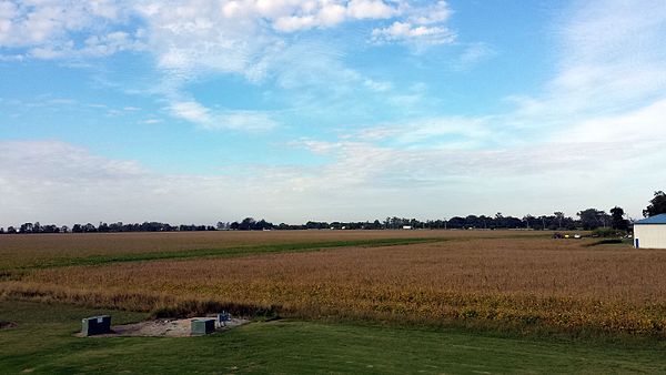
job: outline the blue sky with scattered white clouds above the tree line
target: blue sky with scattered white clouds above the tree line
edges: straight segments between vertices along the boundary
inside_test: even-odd
[[[666,190],[664,0],[0,0],[0,226]]]

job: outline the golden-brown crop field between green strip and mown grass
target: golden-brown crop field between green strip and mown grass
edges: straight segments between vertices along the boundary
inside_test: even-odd
[[[205,246],[206,240],[215,242],[211,246],[317,242],[341,236],[434,236],[447,241],[34,268],[0,282],[0,294],[140,311],[209,303],[272,308],[282,315],[307,318],[485,322],[521,328],[592,328],[657,335],[664,335],[666,326],[663,251],[626,245],[584,246],[589,241],[552,240],[529,232],[201,235],[196,247]],[[159,239],[155,244],[181,249],[186,246],[185,237],[148,235],[141,246],[153,249],[150,239]],[[93,246],[99,239],[87,240]],[[179,241],[170,243],[164,239]],[[130,250],[140,252],[141,246],[134,245]]]

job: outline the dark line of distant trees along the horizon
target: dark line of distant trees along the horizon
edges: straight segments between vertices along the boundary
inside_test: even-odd
[[[657,191],[649,201],[649,205],[643,210],[645,217],[666,213],[666,193]],[[218,222],[212,225],[181,224],[171,225],[160,222],[144,222],[123,224],[99,223],[94,225],[74,224],[71,229],[67,225],[58,226],[54,224],[42,225],[39,222],[23,223],[18,227],[9,226],[7,230],[0,227],[0,234],[14,233],[117,233],[117,232],[190,232],[190,231],[266,231],[266,230],[595,230],[599,227],[626,231],[629,229],[630,221],[626,217],[624,210],[615,206],[606,213],[597,209],[586,209],[576,213],[577,219],[565,216],[563,212],[554,212],[551,215],[533,216],[526,214],[523,217],[505,216],[501,212],[495,215],[467,215],[453,216],[448,219],[426,220],[406,217],[386,217],[382,221],[365,222],[314,222],[309,221],[304,224],[273,224],[265,220],[254,220],[245,217],[238,222]]]

